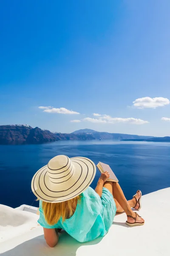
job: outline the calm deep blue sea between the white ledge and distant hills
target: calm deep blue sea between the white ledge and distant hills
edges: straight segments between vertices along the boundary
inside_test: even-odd
[[[0,204],[31,205],[34,173],[57,154],[89,157],[108,163],[119,179],[127,199],[141,189],[147,194],[170,186],[170,143],[59,141],[43,145],[0,145]],[[92,187],[99,178],[97,172]],[[34,201],[34,206],[37,202]]]

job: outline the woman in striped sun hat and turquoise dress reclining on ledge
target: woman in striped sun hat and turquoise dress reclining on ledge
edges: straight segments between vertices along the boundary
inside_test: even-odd
[[[58,155],[34,175],[31,189],[40,199],[38,222],[50,247],[57,244],[59,229],[79,242],[105,236],[116,212],[126,212],[127,225],[144,224],[131,209],[141,208],[141,191],[127,202],[119,184],[107,181],[108,172],[102,173],[94,190],[90,184],[95,174],[96,166],[90,159]]]

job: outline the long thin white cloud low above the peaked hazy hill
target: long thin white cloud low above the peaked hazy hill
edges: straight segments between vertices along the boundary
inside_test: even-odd
[[[148,121],[144,121],[142,119],[137,119],[133,117],[129,118],[122,118],[122,117],[111,117],[108,115],[101,115],[99,119],[91,118],[91,117],[86,117],[83,119],[83,121],[88,121],[88,122],[93,122],[93,123],[130,123],[130,124],[135,124],[135,125],[143,125],[148,123]]]

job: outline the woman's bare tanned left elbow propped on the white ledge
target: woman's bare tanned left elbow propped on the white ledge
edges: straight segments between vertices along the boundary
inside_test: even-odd
[[[58,230],[55,228],[45,228],[43,227],[44,230],[44,238],[46,243],[50,247],[54,247],[58,243],[59,235],[58,235]]]

